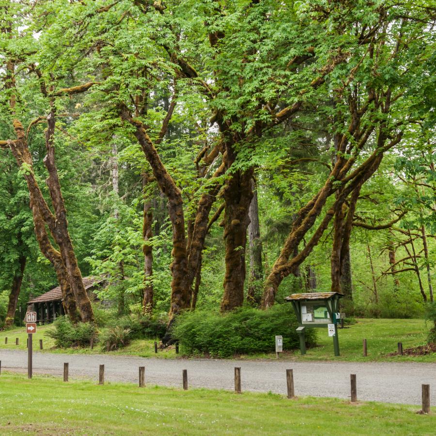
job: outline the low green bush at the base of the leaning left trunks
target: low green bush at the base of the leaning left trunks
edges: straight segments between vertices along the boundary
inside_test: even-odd
[[[47,330],[46,335],[55,340],[57,347],[86,346],[91,343],[91,338],[97,336],[97,328],[91,323],[74,325],[62,316],[54,322],[52,329]]]

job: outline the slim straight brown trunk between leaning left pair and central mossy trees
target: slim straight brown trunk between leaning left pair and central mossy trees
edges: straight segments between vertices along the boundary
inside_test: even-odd
[[[148,185],[148,174],[142,176],[142,189]],[[142,224],[142,239],[144,244],[142,251],[144,253],[144,299],[142,301],[142,311],[148,315],[153,313],[153,283],[151,277],[153,276],[153,247],[148,242],[153,237],[153,210],[149,199],[145,197],[144,193],[144,210],[143,210],[143,224]]]

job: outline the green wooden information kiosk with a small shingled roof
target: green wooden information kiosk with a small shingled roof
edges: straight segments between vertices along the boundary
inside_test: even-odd
[[[290,301],[298,320],[296,329],[300,337],[301,354],[306,354],[306,327],[327,327],[328,336],[333,337],[335,356],[339,356],[338,325],[339,299],[343,294],[339,292],[313,292],[311,294],[292,294],[285,298]]]

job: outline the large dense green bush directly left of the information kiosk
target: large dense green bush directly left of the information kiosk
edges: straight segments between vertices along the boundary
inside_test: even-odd
[[[283,336],[284,350],[296,349],[299,347],[297,327],[292,306],[277,304],[267,311],[241,308],[226,314],[185,312],[177,318],[172,336],[187,354],[229,357],[274,351],[275,335]],[[314,330],[306,330],[307,345],[315,342]]]

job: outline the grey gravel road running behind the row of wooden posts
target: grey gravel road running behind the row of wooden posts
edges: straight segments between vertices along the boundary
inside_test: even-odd
[[[1,368],[27,372],[27,352],[0,350]],[[138,382],[138,367],[145,366],[146,383],[182,384],[182,370],[192,387],[234,389],[234,367],[241,367],[242,390],[286,393],[286,369],[294,370],[296,395],[349,398],[350,374],[357,375],[358,399],[385,403],[420,405],[421,384],[430,384],[431,402],[436,405],[436,364],[286,362],[250,360],[164,360],[110,355],[33,353],[33,374],[61,375],[69,363],[70,379],[98,379],[105,365],[105,381]]]

